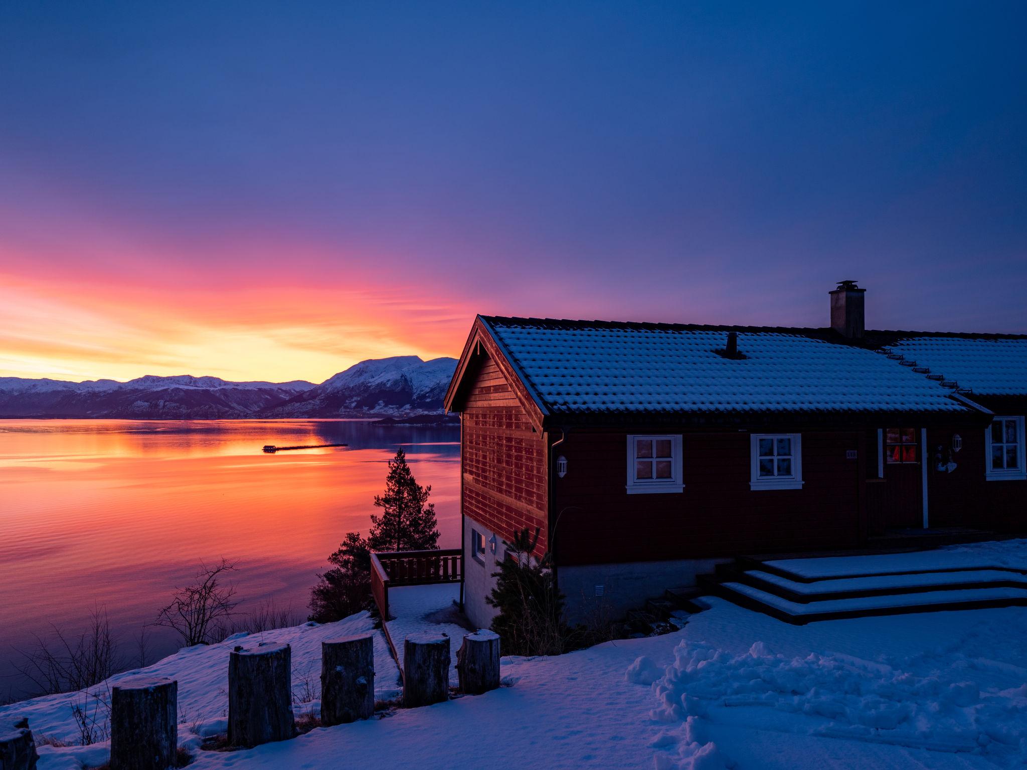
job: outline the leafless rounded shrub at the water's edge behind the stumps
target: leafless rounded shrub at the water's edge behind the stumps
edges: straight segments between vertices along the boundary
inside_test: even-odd
[[[191,585],[179,588],[172,603],[157,613],[154,625],[176,631],[186,647],[212,644],[218,628],[235,614],[235,586],[225,583],[235,564],[222,559],[214,567],[202,562]]]

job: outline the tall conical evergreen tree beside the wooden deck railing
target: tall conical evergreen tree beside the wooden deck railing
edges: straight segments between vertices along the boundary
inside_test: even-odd
[[[385,494],[375,496],[382,514],[371,515],[371,550],[433,550],[439,547],[435,505],[428,502],[431,487],[421,487],[410,472],[401,448],[389,460]],[[427,504],[425,504],[427,503]]]

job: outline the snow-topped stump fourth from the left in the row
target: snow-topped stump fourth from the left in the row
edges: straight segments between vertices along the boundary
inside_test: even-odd
[[[375,713],[375,641],[370,633],[321,642],[321,724],[366,720]]]

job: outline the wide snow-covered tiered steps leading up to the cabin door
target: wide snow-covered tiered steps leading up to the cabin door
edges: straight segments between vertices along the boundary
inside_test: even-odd
[[[744,557],[705,587],[791,623],[1027,606],[1027,563],[969,550],[814,559]]]

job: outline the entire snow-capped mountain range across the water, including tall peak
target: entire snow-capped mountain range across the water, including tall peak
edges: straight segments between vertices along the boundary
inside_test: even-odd
[[[229,382],[218,377],[28,380],[0,377],[0,418],[230,419],[438,414],[455,358],[416,355],[360,361],[320,385]]]

